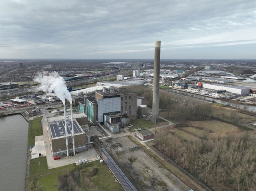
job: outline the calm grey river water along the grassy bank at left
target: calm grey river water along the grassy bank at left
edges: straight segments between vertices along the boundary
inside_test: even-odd
[[[0,117],[0,124],[1,190],[22,191],[26,178],[28,122],[16,114]]]

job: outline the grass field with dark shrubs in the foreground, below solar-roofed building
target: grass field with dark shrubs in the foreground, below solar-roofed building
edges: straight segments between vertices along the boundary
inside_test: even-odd
[[[65,177],[68,179],[68,183],[62,180]],[[71,186],[76,187],[75,190],[85,191],[123,190],[107,165],[99,161],[78,166],[66,165],[48,170],[46,157],[30,160],[26,191],[57,191],[62,190],[61,185],[65,186],[67,190]]]

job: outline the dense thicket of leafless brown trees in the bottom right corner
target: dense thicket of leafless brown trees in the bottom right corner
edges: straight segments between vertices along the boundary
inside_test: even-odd
[[[155,147],[213,190],[254,191],[255,142],[251,132],[185,141],[161,131]]]

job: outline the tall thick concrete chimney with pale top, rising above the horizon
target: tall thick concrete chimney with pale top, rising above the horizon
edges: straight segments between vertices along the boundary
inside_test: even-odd
[[[152,118],[151,118],[151,121],[153,123],[159,122],[160,49],[161,49],[161,41],[155,41],[154,86],[153,86]]]

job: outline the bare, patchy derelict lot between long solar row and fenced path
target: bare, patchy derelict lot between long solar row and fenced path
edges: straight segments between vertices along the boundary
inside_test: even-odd
[[[132,149],[128,137],[103,141],[104,147],[139,191],[187,191],[179,179],[149,157],[142,149]]]

